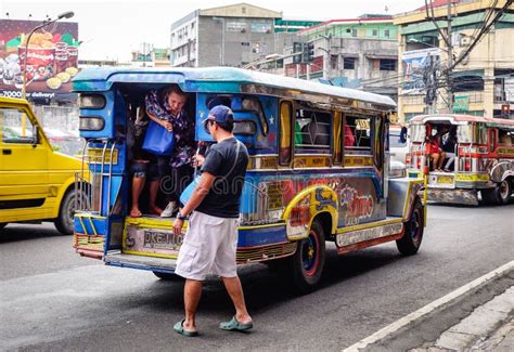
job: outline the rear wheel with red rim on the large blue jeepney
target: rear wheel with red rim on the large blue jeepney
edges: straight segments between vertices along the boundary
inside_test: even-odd
[[[292,281],[296,291],[312,292],[319,284],[325,265],[325,235],[318,220],[312,222],[307,238],[298,242],[294,256],[283,266],[284,278]]]

